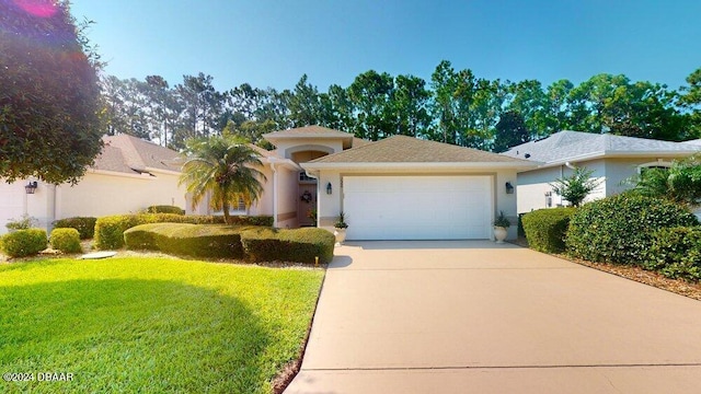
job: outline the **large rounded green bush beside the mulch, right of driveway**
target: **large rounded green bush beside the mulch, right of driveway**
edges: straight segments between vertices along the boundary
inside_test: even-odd
[[[698,223],[679,205],[623,193],[582,206],[570,220],[566,245],[590,262],[640,265],[656,231]]]

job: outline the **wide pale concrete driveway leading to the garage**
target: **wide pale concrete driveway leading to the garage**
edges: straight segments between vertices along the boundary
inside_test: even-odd
[[[701,302],[515,245],[336,248],[286,393],[699,393]]]

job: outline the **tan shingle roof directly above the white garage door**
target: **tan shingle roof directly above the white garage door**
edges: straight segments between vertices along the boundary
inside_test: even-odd
[[[310,163],[525,163],[503,154],[448,143],[393,136],[330,154]]]

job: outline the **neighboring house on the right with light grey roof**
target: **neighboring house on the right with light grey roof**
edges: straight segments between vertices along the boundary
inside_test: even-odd
[[[550,184],[570,176],[573,166],[593,170],[593,177],[600,181],[586,199],[593,200],[631,188],[625,181],[643,169],[668,167],[673,160],[699,151],[701,140],[671,142],[566,130],[516,146],[503,154],[539,164],[518,173],[518,212],[522,213],[567,205]]]

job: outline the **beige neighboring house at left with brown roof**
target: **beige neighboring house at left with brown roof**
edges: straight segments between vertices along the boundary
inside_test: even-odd
[[[34,179],[0,183],[0,233],[8,220],[23,215],[48,230],[62,218],[136,212],[152,205],[185,208],[177,152],[127,135],[103,140],[102,153],[77,185],[38,181],[34,194],[26,194],[25,185]]]

